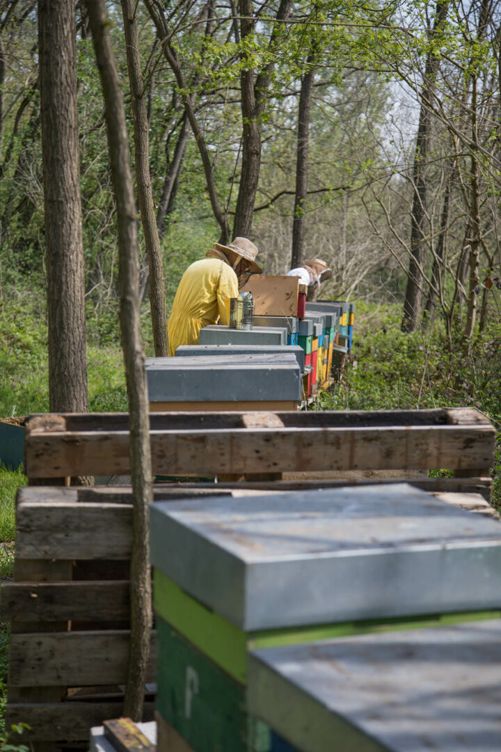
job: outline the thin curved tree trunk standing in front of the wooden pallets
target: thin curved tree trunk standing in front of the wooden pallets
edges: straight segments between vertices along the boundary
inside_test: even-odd
[[[110,40],[104,0],[86,0],[95,56],[104,92],[110,165],[119,238],[120,328],[127,375],[134,533],[131,558],[131,647],[123,712],[133,720],[143,714],[144,682],[151,631],[149,505],[152,468],[144,354],[141,343],[137,216],[129,166],[122,88]]]

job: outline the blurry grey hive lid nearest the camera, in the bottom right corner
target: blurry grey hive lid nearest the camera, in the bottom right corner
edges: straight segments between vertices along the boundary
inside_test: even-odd
[[[499,752],[501,620],[255,650],[247,702],[297,750]]]

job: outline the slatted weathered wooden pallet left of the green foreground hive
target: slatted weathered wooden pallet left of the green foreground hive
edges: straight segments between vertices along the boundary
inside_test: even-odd
[[[91,726],[122,714],[131,497],[102,498],[79,502],[77,489],[58,487],[17,497],[14,582],[2,586],[2,619],[11,621],[6,726],[28,723],[20,741],[41,750],[86,740]],[[154,663],[152,650],[148,681]]]

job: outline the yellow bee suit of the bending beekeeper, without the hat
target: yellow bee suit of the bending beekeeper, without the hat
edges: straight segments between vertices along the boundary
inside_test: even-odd
[[[180,344],[198,344],[200,330],[218,317],[227,324],[225,300],[237,296],[238,278],[230,265],[220,259],[191,264],[181,277],[167,323],[169,353],[174,355]]]

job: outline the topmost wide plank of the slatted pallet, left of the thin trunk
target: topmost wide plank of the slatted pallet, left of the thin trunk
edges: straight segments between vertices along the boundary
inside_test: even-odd
[[[19,559],[127,559],[131,545],[131,505],[45,501],[17,504]]]

